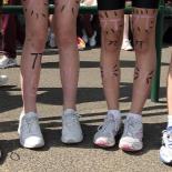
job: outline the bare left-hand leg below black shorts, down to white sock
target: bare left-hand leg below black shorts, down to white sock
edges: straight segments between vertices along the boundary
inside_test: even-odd
[[[109,110],[119,109],[119,55],[123,32],[123,10],[100,11],[102,28],[101,74]]]

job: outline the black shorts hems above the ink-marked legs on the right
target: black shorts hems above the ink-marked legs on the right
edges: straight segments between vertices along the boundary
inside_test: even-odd
[[[159,0],[131,0],[135,8],[158,9]],[[124,9],[125,0],[98,0],[99,10]]]

